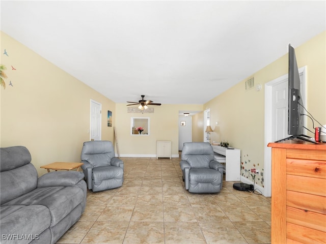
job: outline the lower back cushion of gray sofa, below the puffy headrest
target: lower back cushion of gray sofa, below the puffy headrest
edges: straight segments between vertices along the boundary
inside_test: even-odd
[[[31,163],[1,172],[1,205],[36,189],[37,177],[37,171]]]

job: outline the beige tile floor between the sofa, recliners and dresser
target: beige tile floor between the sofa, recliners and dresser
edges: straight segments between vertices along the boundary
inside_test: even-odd
[[[189,193],[180,159],[121,159],[123,186],[89,191],[84,214],[57,243],[270,243],[270,198],[230,181],[220,193]]]

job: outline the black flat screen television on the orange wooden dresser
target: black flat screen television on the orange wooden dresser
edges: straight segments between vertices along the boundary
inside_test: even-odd
[[[316,143],[304,135],[304,103],[300,91],[300,74],[296,64],[294,48],[289,44],[289,98],[288,98],[288,134],[279,141],[300,139]]]

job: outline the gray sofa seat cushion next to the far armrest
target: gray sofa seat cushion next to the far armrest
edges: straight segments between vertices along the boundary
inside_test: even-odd
[[[83,200],[84,193],[79,187],[42,187],[4,205],[46,206],[50,211],[50,227],[52,227],[65,218]]]

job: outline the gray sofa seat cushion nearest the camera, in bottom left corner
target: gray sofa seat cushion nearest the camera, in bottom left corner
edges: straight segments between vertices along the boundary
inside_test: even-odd
[[[45,206],[19,205],[5,208],[6,215],[1,216],[2,243],[30,243],[32,238],[37,239],[50,226],[50,211]]]

